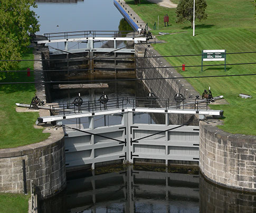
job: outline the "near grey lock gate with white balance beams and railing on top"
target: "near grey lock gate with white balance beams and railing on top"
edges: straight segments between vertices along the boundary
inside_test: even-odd
[[[191,126],[194,120],[182,125],[170,124],[170,114],[197,115],[199,118],[222,116],[222,110],[208,109],[206,100],[156,100],[154,98],[105,98],[72,104],[52,105],[53,114],[39,117],[38,123],[56,122],[63,126],[65,134],[65,160],[67,169],[94,167],[123,161],[149,161],[152,163],[197,164],[199,161],[199,126]],[[219,97],[216,97],[219,98]],[[149,122],[140,123],[136,116],[148,114]],[[163,118],[155,124],[152,117]],[[96,125],[99,116],[104,124]],[[151,116],[151,117],[150,117]],[[116,122],[111,121],[118,117]],[[87,118],[84,127],[81,118]],[[75,124],[68,123],[75,119]]]

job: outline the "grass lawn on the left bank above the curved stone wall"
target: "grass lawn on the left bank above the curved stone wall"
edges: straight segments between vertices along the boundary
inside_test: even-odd
[[[33,49],[30,49],[23,59],[33,59]],[[33,69],[33,62],[22,62],[22,70],[27,67]],[[5,82],[33,82],[34,77],[26,76],[26,72],[7,76]],[[2,81],[3,82],[3,81]],[[49,133],[43,134],[42,129],[35,129],[35,121],[39,113],[17,113],[15,103],[31,102],[35,95],[34,84],[8,84],[0,85],[0,148],[11,148],[33,144],[45,140]]]

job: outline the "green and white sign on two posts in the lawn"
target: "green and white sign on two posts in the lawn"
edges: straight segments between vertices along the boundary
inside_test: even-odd
[[[203,72],[203,62],[213,62],[217,60],[224,60],[225,72],[226,72],[226,50],[225,49],[208,49],[202,50],[202,66],[201,72]]]

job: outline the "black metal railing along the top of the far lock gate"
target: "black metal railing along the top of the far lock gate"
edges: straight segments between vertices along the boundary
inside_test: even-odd
[[[89,37],[122,37],[124,34],[132,33],[131,37],[135,38],[138,35],[134,31],[70,31],[60,33],[44,33],[43,35],[48,39],[70,39],[70,38],[89,38]]]

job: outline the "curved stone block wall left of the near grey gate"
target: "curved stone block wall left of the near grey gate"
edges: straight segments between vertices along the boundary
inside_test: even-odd
[[[66,186],[64,134],[62,128],[41,143],[0,149],[0,192],[23,193],[23,163],[26,188],[33,180],[39,198],[51,197]]]

